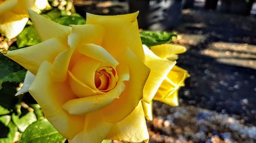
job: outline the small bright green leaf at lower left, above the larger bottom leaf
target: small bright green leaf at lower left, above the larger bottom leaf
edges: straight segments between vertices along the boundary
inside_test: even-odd
[[[15,113],[12,114],[12,121],[18,127],[20,132],[24,132],[26,128],[36,120],[36,116],[32,111],[27,112],[26,115],[22,117],[20,117],[20,115],[15,115]]]

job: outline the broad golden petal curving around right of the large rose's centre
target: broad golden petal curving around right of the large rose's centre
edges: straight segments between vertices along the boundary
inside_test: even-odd
[[[102,109],[102,115],[106,122],[116,123],[124,119],[138,105],[143,97],[143,87],[150,72],[130,49],[126,48],[120,54],[120,63],[126,63],[130,69],[130,81],[125,82],[125,90],[119,99],[115,99],[114,103]]]

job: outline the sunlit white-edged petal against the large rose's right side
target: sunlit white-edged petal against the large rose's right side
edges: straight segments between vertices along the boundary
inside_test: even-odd
[[[150,103],[155,96],[158,88],[167,76],[169,71],[173,68],[176,62],[160,59],[146,46],[143,45],[143,49],[146,53],[146,66],[151,69],[150,75],[145,83],[143,90],[143,101]],[[159,66],[161,65],[161,66]]]

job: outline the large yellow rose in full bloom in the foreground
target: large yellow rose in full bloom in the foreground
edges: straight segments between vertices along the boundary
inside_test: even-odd
[[[42,42],[6,56],[35,75],[25,87],[59,133],[71,143],[147,141],[141,99],[150,69],[138,12],[87,14],[87,24],[71,26],[29,13]]]

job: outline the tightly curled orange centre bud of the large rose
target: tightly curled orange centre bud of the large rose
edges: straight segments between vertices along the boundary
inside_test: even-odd
[[[116,72],[112,67],[101,67],[95,72],[94,82],[96,88],[101,92],[108,92],[116,85]]]

